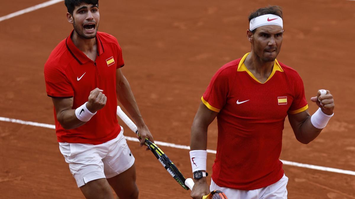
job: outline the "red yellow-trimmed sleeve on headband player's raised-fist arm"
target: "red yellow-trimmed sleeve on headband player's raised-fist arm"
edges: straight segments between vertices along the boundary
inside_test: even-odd
[[[305,96],[305,88],[299,74],[297,74],[295,77],[294,93],[295,96],[289,108],[289,114],[301,113],[308,109],[308,103]]]

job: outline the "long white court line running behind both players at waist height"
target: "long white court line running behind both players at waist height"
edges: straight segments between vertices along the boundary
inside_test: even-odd
[[[24,125],[31,125],[31,126],[39,126],[39,127],[44,127],[44,128],[48,128],[48,129],[55,129],[55,125],[53,125],[53,124],[43,124],[43,123],[37,123],[37,122],[32,122],[32,121],[23,121],[23,120],[12,119],[12,118],[0,117],[0,121],[7,121],[7,122],[24,124]],[[125,136],[125,138],[126,138],[126,140],[129,140],[129,141],[139,142],[136,137]],[[168,143],[168,142],[160,142],[160,141],[154,141],[154,142],[158,146],[166,146],[166,147],[173,147],[173,148],[178,148],[178,149],[190,150],[190,146]],[[216,151],[211,150],[211,149],[207,149],[207,152],[216,154]],[[296,162],[291,162],[291,161],[287,161],[287,160],[281,160],[281,161],[284,165],[298,166],[298,167],[304,167],[304,168],[308,168],[308,169],[329,171],[329,172],[335,172],[335,173],[339,173],[339,174],[348,174],[348,175],[355,176],[355,171],[335,169],[335,168],[331,168],[331,167],[317,166],[317,165],[311,165],[311,164],[296,163]]]

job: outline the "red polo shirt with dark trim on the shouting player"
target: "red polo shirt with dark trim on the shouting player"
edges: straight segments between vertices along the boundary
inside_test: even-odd
[[[73,97],[72,109],[76,109],[98,87],[104,90],[107,102],[86,124],[71,130],[60,125],[54,109],[56,135],[58,142],[101,144],[121,130],[116,116],[116,69],[124,66],[122,50],[114,36],[97,32],[97,57],[92,61],[74,45],[72,34],[55,47],[44,65],[47,95]]]

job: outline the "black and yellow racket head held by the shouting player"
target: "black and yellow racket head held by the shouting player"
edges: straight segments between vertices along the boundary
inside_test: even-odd
[[[178,167],[168,158],[168,156],[154,143],[146,138],[146,145],[154,154],[154,156],[160,161],[160,163],[164,166],[166,171],[180,184],[180,186],[186,190],[189,190],[189,187],[185,185],[185,177],[181,174]]]

